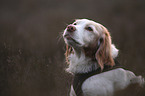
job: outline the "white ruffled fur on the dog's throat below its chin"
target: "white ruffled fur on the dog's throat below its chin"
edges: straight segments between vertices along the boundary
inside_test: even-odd
[[[67,71],[73,74],[87,73],[98,67],[97,62],[87,57],[82,49],[74,50],[74,53],[69,55],[69,62]]]

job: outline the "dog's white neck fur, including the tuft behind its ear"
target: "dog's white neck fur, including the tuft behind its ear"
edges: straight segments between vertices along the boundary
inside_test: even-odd
[[[70,65],[67,68],[68,72],[73,74],[87,73],[98,68],[99,65],[97,63],[97,60],[94,60],[94,51],[89,52],[87,50],[90,49],[73,49],[73,53],[69,55]],[[113,58],[116,58],[118,56],[118,49],[116,49],[116,47],[113,44],[111,45],[111,53]]]

